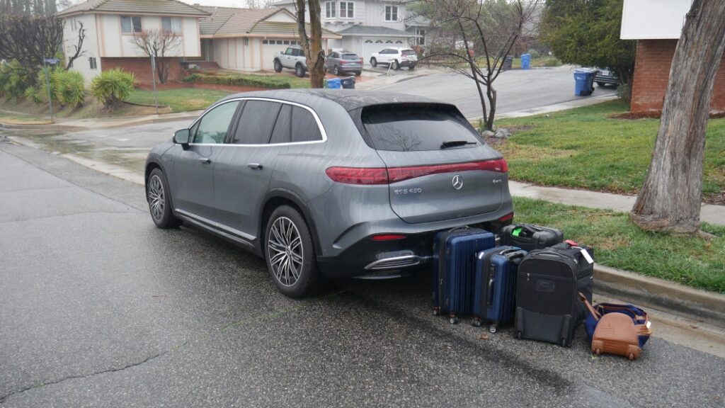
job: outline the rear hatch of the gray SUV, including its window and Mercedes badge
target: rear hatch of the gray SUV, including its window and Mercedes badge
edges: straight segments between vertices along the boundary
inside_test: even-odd
[[[373,105],[360,121],[386,164],[390,205],[403,221],[460,219],[501,207],[506,162],[455,106]]]

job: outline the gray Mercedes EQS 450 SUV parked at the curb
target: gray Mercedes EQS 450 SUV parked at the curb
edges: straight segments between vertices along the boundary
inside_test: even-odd
[[[513,218],[508,168],[453,105],[403,94],[234,94],[146,160],[154,223],[267,261],[285,295],[429,264],[436,232]]]

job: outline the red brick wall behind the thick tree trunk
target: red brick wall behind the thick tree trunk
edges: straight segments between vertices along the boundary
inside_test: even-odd
[[[677,40],[639,40],[632,82],[632,112],[662,110]],[[725,110],[725,55],[713,86],[711,111]]]

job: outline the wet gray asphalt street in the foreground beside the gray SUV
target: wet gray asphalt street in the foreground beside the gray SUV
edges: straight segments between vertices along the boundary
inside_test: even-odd
[[[1,140],[1,139],[0,139]],[[722,407],[725,362],[636,362],[431,315],[427,272],[279,294],[265,264],[154,227],[144,189],[0,143],[0,407]]]

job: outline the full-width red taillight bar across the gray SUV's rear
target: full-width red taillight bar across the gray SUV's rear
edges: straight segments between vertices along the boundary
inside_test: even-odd
[[[455,173],[457,171],[497,171],[506,173],[506,160],[486,160],[469,163],[436,164],[431,166],[410,166],[391,168],[330,167],[325,173],[333,181],[347,184],[389,184],[415,179],[431,174]]]

